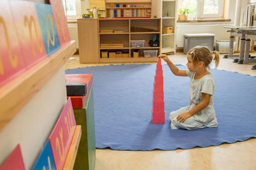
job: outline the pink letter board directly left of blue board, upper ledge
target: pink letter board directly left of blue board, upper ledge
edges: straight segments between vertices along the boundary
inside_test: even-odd
[[[13,20],[27,69],[47,57],[35,3],[10,1]]]

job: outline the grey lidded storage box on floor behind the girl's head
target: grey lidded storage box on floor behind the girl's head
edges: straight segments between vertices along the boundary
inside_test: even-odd
[[[188,53],[189,50],[195,46],[205,46],[211,52],[213,51],[215,34],[184,34],[184,53]]]

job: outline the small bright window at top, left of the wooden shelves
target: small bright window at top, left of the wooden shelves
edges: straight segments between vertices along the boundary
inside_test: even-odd
[[[76,20],[81,18],[81,1],[80,0],[63,0],[63,7],[67,20]]]

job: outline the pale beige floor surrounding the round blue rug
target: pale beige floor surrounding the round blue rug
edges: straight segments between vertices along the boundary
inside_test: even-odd
[[[174,64],[185,65],[187,62],[183,53],[169,55],[169,57]],[[107,64],[79,64],[79,57],[74,56],[74,60],[68,60],[65,68],[102,65]],[[256,76],[256,70],[252,70],[252,66],[253,64],[236,64],[232,62],[232,59],[222,59],[221,57],[218,69]],[[233,144],[224,143],[208,148],[196,147],[189,150],[145,152],[97,149],[95,169],[256,169],[256,139]]]

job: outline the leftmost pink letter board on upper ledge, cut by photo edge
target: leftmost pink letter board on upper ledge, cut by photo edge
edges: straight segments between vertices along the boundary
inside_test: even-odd
[[[9,1],[0,1],[0,87],[25,71]]]

